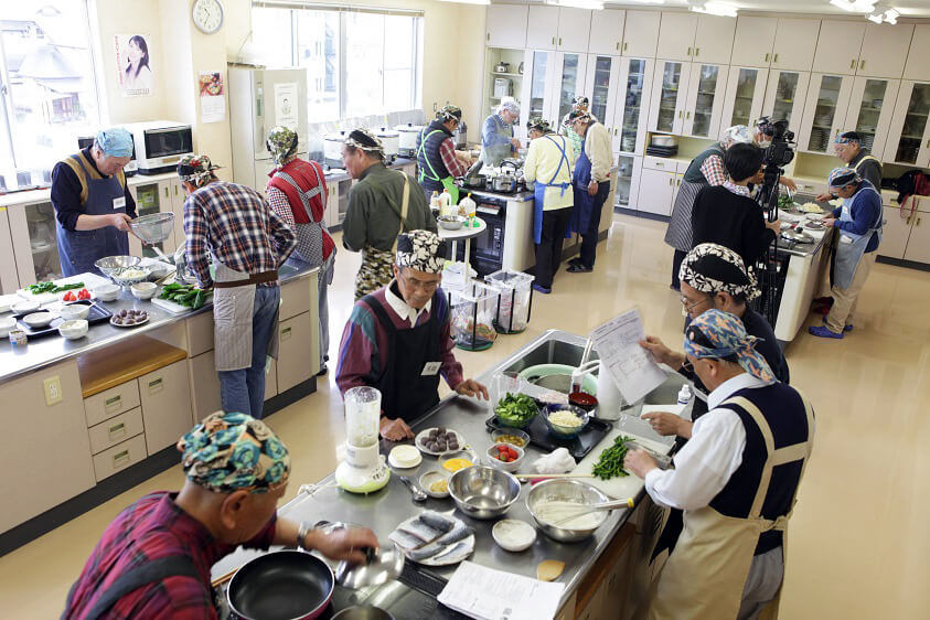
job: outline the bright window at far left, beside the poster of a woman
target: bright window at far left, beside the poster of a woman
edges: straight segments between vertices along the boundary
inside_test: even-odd
[[[51,183],[99,125],[86,0],[0,0],[0,190]]]

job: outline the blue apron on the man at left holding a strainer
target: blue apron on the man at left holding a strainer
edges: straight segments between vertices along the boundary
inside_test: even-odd
[[[126,190],[114,174],[105,179],[94,179],[79,154],[73,156],[84,170],[87,183],[87,200],[84,202],[82,214],[110,215],[126,213],[126,201],[122,206],[114,207],[114,201],[125,197]],[[99,274],[94,263],[107,256],[126,256],[129,254],[129,235],[117,231],[113,226],[105,226],[95,231],[67,231],[60,222],[55,224],[58,239],[58,259],[62,274],[65,277],[78,274]]]

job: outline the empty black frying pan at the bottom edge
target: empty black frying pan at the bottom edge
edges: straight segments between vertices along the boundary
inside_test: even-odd
[[[244,564],[229,581],[226,599],[244,620],[310,620],[327,609],[334,586],[322,559],[282,549]]]

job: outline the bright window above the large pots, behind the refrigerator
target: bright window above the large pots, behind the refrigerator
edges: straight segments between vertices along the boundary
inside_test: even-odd
[[[310,122],[420,107],[418,14],[255,2],[252,21],[263,63],[307,67]]]

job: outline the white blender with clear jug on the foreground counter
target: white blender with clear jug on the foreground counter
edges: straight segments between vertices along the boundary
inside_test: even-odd
[[[391,479],[391,470],[378,452],[381,392],[353,387],[345,393],[345,460],[335,470],[335,481],[351,493],[373,493]]]

